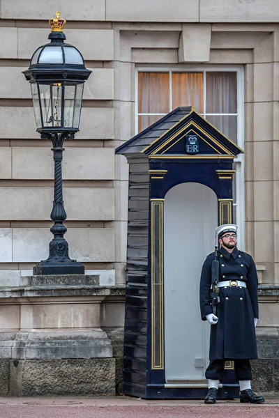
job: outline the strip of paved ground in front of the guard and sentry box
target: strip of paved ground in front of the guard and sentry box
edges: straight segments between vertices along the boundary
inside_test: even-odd
[[[264,405],[239,401],[144,401],[137,398],[0,398],[0,418],[279,418],[279,399]]]

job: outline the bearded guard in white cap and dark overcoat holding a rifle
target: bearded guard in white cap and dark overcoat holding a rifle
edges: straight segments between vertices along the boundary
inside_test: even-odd
[[[218,226],[216,255],[209,254],[202,266],[200,309],[202,320],[211,324],[210,363],[205,375],[209,382],[209,392],[204,403],[216,403],[218,382],[222,380],[226,360],[234,360],[235,378],[240,386],[240,401],[264,402],[264,398],[257,396],[251,389],[250,359],[257,358],[257,270],[252,257],[237,249],[236,230],[237,226],[234,224]],[[216,280],[218,293],[214,293],[218,295],[215,297],[218,304],[216,314],[213,314],[211,270],[215,259],[220,268],[219,278]]]

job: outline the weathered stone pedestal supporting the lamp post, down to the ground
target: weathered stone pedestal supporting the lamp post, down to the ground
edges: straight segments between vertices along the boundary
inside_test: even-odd
[[[98,275],[28,276],[0,290],[0,396],[121,390],[124,286]]]

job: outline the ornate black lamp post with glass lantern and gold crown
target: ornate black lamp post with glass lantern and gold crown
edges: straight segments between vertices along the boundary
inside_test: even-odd
[[[42,139],[52,141],[54,158],[54,201],[50,229],[54,238],[50,254],[33,268],[33,274],[84,274],[84,266],[68,255],[68,242],[63,225],[67,215],[63,206],[62,159],[63,141],[74,139],[79,130],[83,86],[91,71],[84,66],[82,54],[73,45],[64,43],[66,20],[50,19],[50,43],[34,52],[29,69],[24,71],[31,84],[37,131]]]

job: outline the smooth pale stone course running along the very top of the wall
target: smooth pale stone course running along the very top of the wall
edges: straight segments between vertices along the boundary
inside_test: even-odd
[[[43,5],[29,1],[29,7],[17,0],[1,1],[3,19],[46,20],[56,8],[65,9],[69,20],[80,21],[121,21],[121,22],[278,22],[279,6],[276,0],[255,0],[237,2],[230,0],[187,0],[181,4],[174,0],[61,0],[45,1]],[[147,13],[148,11],[148,13]]]

